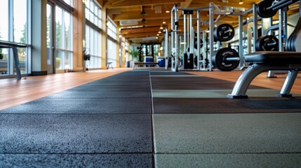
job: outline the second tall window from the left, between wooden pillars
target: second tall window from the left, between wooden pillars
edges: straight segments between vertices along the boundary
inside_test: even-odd
[[[55,7],[56,69],[72,69],[72,15]]]

